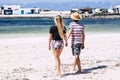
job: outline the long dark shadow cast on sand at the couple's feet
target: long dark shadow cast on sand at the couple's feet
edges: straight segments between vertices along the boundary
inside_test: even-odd
[[[103,68],[107,68],[107,66],[102,65],[102,66],[92,67],[88,69],[83,69],[82,72],[76,71],[75,73],[66,73],[63,75],[63,77],[68,76],[68,75],[88,74],[88,73],[91,73],[93,70],[103,69]]]

